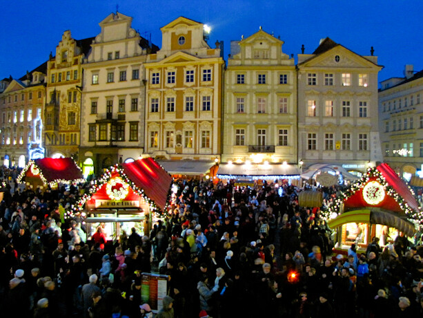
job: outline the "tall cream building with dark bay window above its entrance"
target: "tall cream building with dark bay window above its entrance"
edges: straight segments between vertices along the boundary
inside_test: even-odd
[[[157,47],[131,24],[120,12],[108,15],[83,60],[79,156],[86,176],[144,153],[144,63]]]

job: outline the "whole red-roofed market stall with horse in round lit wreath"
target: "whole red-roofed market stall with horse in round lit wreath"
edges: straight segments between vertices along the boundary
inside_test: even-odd
[[[98,227],[108,241],[135,227],[148,234],[152,214],[166,208],[172,177],[153,158],[121,163],[110,167],[101,178],[92,181],[88,194],[67,212],[86,217],[87,239]]]

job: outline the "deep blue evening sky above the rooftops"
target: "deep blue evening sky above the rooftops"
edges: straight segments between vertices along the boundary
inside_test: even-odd
[[[405,64],[423,69],[422,0],[16,0],[2,3],[0,77],[19,78],[48,59],[65,30],[72,37],[95,37],[99,22],[116,11],[133,17],[132,27],[161,46],[160,27],[183,15],[212,28],[210,46],[223,40],[227,59],[230,40],[259,30],[285,42],[295,58],[312,53],[319,39],[331,37],[360,55],[375,48],[385,68],[379,81],[402,77]]]

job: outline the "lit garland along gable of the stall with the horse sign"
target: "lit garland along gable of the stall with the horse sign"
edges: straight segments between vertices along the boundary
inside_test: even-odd
[[[157,207],[155,202],[148,198],[146,194],[144,194],[144,190],[140,189],[135,185],[135,183],[126,176],[125,171],[122,167],[119,167],[119,164],[116,164],[115,166],[110,167],[110,169],[106,170],[106,172],[101,176],[101,178],[96,179],[93,181],[93,185],[88,190],[88,194],[83,194],[83,196],[79,199],[79,201],[70,207],[70,210],[66,211],[65,218],[72,218],[77,213],[81,213],[83,211],[83,206],[86,204],[88,200],[92,198],[92,195],[95,194],[101,187],[103,187],[104,184],[108,183],[112,179],[112,174],[119,174],[121,180],[129,185],[131,187],[132,191],[135,192],[135,194],[141,196],[141,198],[144,198],[146,203],[149,205],[150,210],[159,215],[163,215],[164,213],[160,211],[160,209]],[[167,205],[166,205],[167,207]],[[85,214],[82,212],[82,216],[85,216]]]

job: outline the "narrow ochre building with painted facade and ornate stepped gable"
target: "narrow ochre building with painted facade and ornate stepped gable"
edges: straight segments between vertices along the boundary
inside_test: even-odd
[[[47,99],[44,108],[46,156],[78,160],[81,120],[82,59],[94,38],[75,40],[63,32],[56,56],[48,60]]]

